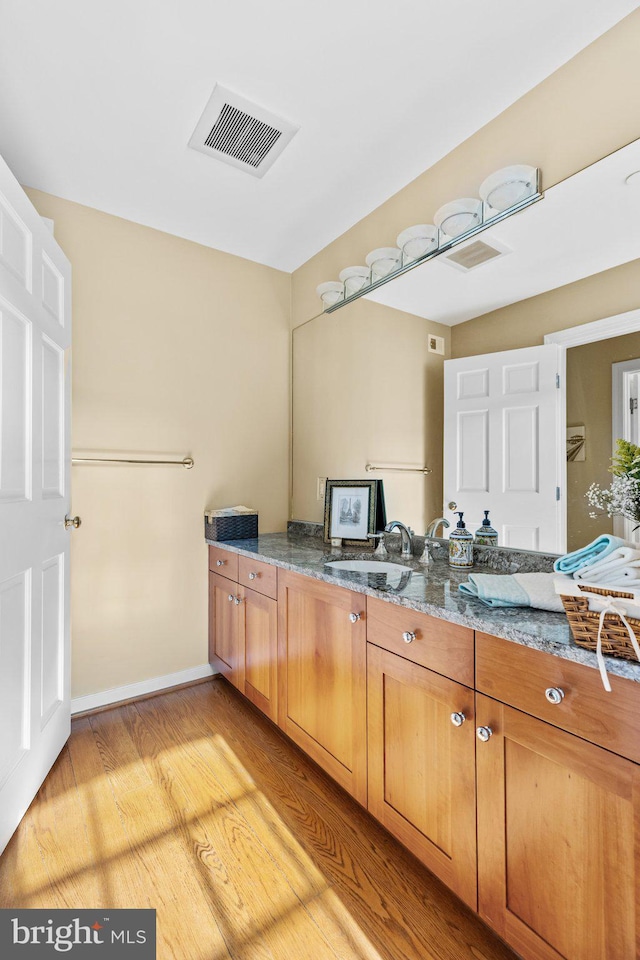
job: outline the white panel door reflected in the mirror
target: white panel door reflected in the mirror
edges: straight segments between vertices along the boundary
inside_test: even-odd
[[[484,511],[501,546],[562,553],[564,351],[556,344],[447,360],[444,365],[444,516]]]

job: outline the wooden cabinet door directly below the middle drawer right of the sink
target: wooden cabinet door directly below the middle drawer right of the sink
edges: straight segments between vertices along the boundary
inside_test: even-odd
[[[367,671],[369,810],[475,910],[473,690],[370,643]]]

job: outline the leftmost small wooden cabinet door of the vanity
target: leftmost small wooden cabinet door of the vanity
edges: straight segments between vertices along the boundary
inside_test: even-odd
[[[209,662],[244,691],[244,656],[238,636],[239,587],[232,580],[209,574]]]

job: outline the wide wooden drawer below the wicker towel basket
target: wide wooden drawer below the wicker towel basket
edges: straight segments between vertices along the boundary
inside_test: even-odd
[[[640,762],[640,684],[610,677],[540,650],[476,634],[476,688],[495,700]],[[550,703],[547,690],[564,694]]]

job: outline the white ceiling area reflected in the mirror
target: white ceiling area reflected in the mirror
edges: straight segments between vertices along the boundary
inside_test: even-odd
[[[640,258],[640,140],[551,187],[542,200],[489,227],[481,239],[506,255],[468,273],[444,256],[367,297],[454,326]]]

